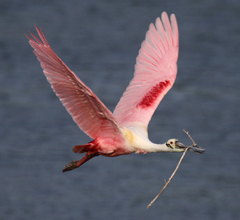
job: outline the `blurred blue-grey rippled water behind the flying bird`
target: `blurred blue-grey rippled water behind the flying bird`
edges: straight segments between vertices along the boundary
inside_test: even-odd
[[[207,149],[97,157],[68,173],[90,141],[46,81],[25,34],[54,51],[111,109],[133,76],[149,24],[175,13],[178,76],[149,126],[163,143],[183,133]],[[239,219],[240,1],[0,1],[0,219]]]

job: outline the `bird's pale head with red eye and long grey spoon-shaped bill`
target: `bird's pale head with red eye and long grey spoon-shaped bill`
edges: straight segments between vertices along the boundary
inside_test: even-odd
[[[172,152],[183,152],[188,147],[189,147],[188,150],[193,151],[195,153],[199,153],[199,154],[203,154],[205,151],[203,148],[197,145],[186,146],[182,144],[180,141],[178,141],[177,139],[169,139],[166,142],[166,146],[170,148]]]

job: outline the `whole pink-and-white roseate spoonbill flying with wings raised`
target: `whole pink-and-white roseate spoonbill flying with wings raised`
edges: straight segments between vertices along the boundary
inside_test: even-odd
[[[149,152],[183,152],[187,146],[177,139],[155,144],[148,139],[148,123],[164,95],[173,86],[177,75],[178,26],[174,14],[162,13],[162,21],[150,24],[136,60],[134,78],[123,93],[114,112],[67,67],[53,52],[44,33],[36,26],[39,40],[31,32],[29,43],[41,63],[52,89],[79,128],[93,141],[76,145],[75,153],[86,153],[79,161],[72,161],[63,172],[75,169],[91,158],[103,155]],[[191,146],[189,150],[203,153]]]

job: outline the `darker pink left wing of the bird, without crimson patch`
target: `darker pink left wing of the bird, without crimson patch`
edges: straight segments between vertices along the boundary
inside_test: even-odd
[[[35,41],[27,36],[29,43],[52,89],[80,129],[93,139],[120,133],[112,113],[53,52],[42,30],[36,30],[42,42],[30,32]]]

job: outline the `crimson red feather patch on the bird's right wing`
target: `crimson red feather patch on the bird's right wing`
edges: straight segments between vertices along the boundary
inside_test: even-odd
[[[151,107],[152,104],[156,101],[159,95],[164,91],[164,89],[170,85],[170,81],[166,80],[164,82],[160,82],[142,98],[142,100],[137,104],[137,108],[148,108]]]

